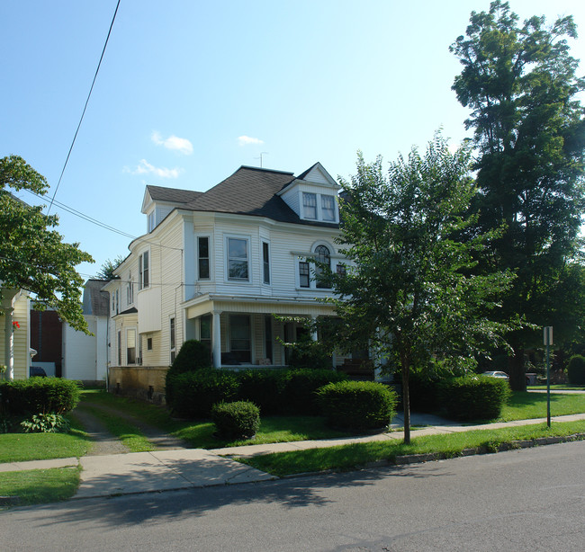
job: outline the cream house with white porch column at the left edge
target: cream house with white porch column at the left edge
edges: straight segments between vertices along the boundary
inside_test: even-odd
[[[0,282],[1,285],[1,282]],[[2,288],[0,315],[0,365],[5,366],[0,378],[25,379],[31,367],[30,298],[23,289]]]

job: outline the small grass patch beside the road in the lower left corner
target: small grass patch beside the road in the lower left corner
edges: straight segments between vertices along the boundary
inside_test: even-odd
[[[18,497],[13,505],[54,503],[76,494],[78,467],[54,467],[0,473],[0,495]],[[6,503],[7,504],[7,503]],[[0,510],[8,506],[0,503]]]

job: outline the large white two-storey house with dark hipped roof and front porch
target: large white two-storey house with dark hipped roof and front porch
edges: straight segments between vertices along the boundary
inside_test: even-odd
[[[242,166],[206,192],[147,186],[148,233],[104,288],[111,385],[148,387],[151,396],[163,372],[146,372],[165,370],[188,339],[208,345],[215,367],[286,365],[277,338],[295,341],[303,327],[273,315],[334,314],[318,300],[331,290],[307,258],[345,270],[338,189],[319,163],[296,177]]]

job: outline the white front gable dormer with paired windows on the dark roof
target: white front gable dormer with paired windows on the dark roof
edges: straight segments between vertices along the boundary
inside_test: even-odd
[[[339,223],[338,183],[316,163],[278,192],[284,202],[308,222]]]

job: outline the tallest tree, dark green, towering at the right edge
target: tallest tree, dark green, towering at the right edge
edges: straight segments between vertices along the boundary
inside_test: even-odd
[[[585,206],[585,121],[577,100],[585,81],[567,42],[576,36],[571,16],[550,27],[544,17],[519,24],[498,1],[487,13],[473,12],[465,36],[451,46],[464,67],[453,90],[471,109],[465,126],[477,152],[479,228],[505,227],[482,255],[482,270],[517,274],[501,316],[518,313],[529,323],[507,336],[510,384],[518,390],[526,388],[525,349],[542,343],[536,326],[567,327],[575,308],[583,310],[563,300]],[[555,331],[557,337],[567,336]]]

